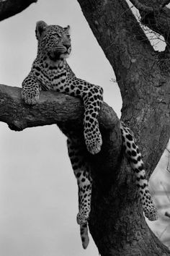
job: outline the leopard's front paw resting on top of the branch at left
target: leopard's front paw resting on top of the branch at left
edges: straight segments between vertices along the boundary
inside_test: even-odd
[[[39,101],[39,90],[25,91],[22,90],[22,100],[28,105],[35,105]]]

